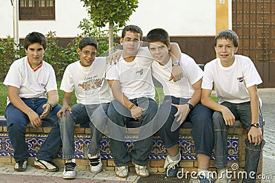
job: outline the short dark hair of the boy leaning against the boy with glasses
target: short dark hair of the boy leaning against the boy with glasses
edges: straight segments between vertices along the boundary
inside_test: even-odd
[[[168,46],[168,44],[170,43],[170,38],[166,30],[162,28],[156,28],[148,32],[146,36],[146,41],[148,43],[160,41]]]

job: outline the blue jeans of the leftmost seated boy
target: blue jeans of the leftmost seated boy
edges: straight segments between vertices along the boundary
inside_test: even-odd
[[[47,103],[46,98],[21,98],[23,102],[33,109],[39,116],[43,113],[43,105]],[[61,133],[56,113],[61,109],[61,105],[56,105],[44,120],[52,122],[52,130],[47,139],[39,149],[36,157],[39,160],[51,161],[56,157],[58,149],[61,147]],[[28,145],[25,142],[26,126],[30,122],[28,116],[10,103],[5,109],[7,119],[8,136],[14,149],[14,160],[28,160]]]

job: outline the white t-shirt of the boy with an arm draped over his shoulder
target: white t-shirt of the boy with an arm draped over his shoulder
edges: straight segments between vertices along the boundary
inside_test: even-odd
[[[157,61],[153,61],[153,77],[156,78],[164,88],[165,96],[175,96],[177,98],[191,98],[194,93],[192,85],[197,83],[203,76],[202,69],[195,63],[194,59],[187,54],[181,54],[179,60],[180,67],[184,77],[179,81],[169,81],[172,71],[172,60],[168,61],[166,65],[159,65]]]

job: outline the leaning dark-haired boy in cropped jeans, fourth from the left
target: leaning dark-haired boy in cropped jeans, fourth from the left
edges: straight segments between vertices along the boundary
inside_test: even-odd
[[[168,32],[156,28],[146,36],[148,49],[155,61],[152,63],[153,77],[162,84],[164,102],[159,107],[155,126],[160,128],[164,146],[168,151],[164,169],[167,177],[175,177],[181,160],[179,151],[179,126],[192,122],[192,138],[195,142],[200,182],[212,182],[209,176],[210,155],[214,147],[212,110],[201,105],[201,78],[203,71],[187,54],[181,54],[179,65],[184,77],[176,83],[168,80],[172,65]],[[175,126],[174,126],[175,125]],[[196,182],[194,179],[193,182]]]

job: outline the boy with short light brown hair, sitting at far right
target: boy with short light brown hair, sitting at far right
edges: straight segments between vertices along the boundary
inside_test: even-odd
[[[228,128],[235,120],[241,120],[248,132],[245,140],[245,172],[249,175],[243,182],[256,182],[263,141],[263,117],[259,106],[257,85],[262,83],[256,67],[247,56],[237,55],[238,36],[232,30],[222,30],[215,37],[214,49],[218,58],[204,67],[201,103],[214,110],[214,138],[216,182],[230,182],[228,167]],[[219,103],[210,99],[216,87]],[[250,176],[252,175],[252,176]]]

